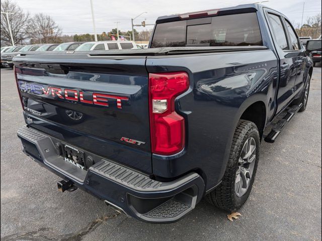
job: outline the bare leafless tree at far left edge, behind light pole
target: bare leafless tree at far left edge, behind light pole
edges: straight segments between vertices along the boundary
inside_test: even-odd
[[[26,23],[29,19],[29,14],[25,14],[16,3],[12,3],[9,0],[1,1],[1,12],[13,13],[9,15],[9,23],[11,26],[14,43],[22,44],[23,41],[27,38],[27,35],[25,34],[25,29]],[[4,14],[1,14],[0,30],[1,42],[11,45],[12,43],[10,38],[8,22]]]

